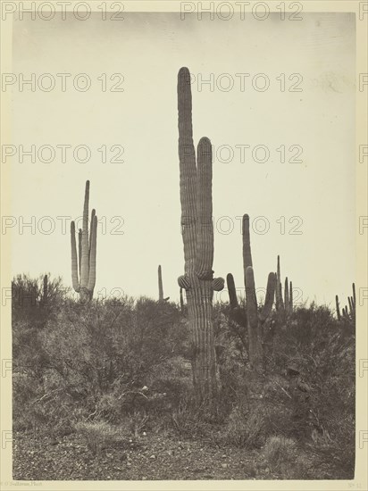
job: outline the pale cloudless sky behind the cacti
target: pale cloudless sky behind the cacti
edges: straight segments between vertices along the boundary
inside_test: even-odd
[[[176,94],[181,66],[195,76],[195,144],[205,136],[215,149],[215,275],[232,272],[237,287],[243,287],[236,217],[247,212],[251,220],[263,216],[269,224],[267,233],[251,235],[256,287],[265,287],[280,254],[282,276],[293,280],[303,300],[333,306],[339,294],[345,302],[355,281],[355,17],[348,13],[304,13],[297,22],[280,21],[277,14],[266,21],[251,15],[243,21],[196,16],[180,21],[178,13],[126,13],[121,22],[101,21],[100,14],[88,21],[15,21],[12,143],[17,155],[3,165],[13,169],[12,215],[17,223],[21,216],[24,221],[35,216],[36,230],[13,229],[13,274],[50,271],[71,285],[70,221],[63,234],[56,217],[81,215],[89,179],[90,209],[95,207],[106,223],[105,234],[98,230],[95,292],[119,287],[128,295],[157,298],[161,264],[164,295],[178,299],[177,277],[184,270]],[[37,82],[50,73],[54,90],[24,86],[20,91],[20,73],[29,79],[32,72]],[[71,74],[65,92],[57,73]],[[91,80],[86,92],[72,84],[80,73]],[[236,75],[242,73],[249,76]],[[264,77],[255,77],[260,73],[268,90],[252,86],[254,80],[263,87]],[[121,75],[111,80],[113,74]],[[198,84],[211,74],[213,90]],[[289,79],[291,74],[300,75]],[[280,90],[283,77],[285,91]],[[46,87],[47,79],[42,82]],[[228,83],[233,83],[229,91]],[[293,84],[302,91],[289,92]],[[113,85],[123,92],[110,91]],[[25,156],[17,162],[21,145],[25,150],[53,146],[55,160],[32,163]],[[67,162],[57,145],[71,146]],[[74,160],[72,151],[80,145],[89,146],[89,162]],[[116,146],[108,151],[109,160],[123,147],[124,162],[102,162],[104,145]],[[231,147],[232,162],[225,162],[229,153],[222,146]],[[244,147],[246,162],[240,159],[241,146],[250,146]],[[268,147],[268,162],[252,160],[255,146]],[[287,162],[280,162],[280,146],[286,147]],[[294,155],[302,148],[302,162],[288,162],[290,146]],[[262,160],[262,149],[255,155]],[[54,221],[50,235],[37,227],[41,221],[47,229],[45,216]],[[285,234],[280,217],[285,217]],[[289,223],[291,217],[302,222]],[[124,234],[113,235],[122,220]],[[261,228],[262,222],[256,223]],[[302,234],[290,235],[293,227]]]

